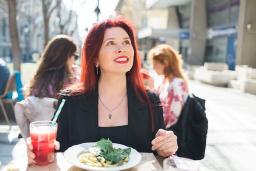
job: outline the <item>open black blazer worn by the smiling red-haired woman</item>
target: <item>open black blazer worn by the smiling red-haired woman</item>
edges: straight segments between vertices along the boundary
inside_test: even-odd
[[[148,95],[154,105],[154,132],[152,132],[149,107],[143,106],[138,101],[133,89],[127,85],[128,141],[124,145],[139,152],[154,152],[156,154],[156,151],[151,150],[151,141],[155,138],[159,128],[165,129],[165,124],[158,95],[153,91],[148,91]],[[66,102],[57,119],[57,141],[60,142],[60,149],[57,152],[63,152],[80,143],[99,141],[101,137],[99,137],[98,129],[98,86],[95,93],[85,98],[60,98],[58,107],[63,98],[66,99]]]

